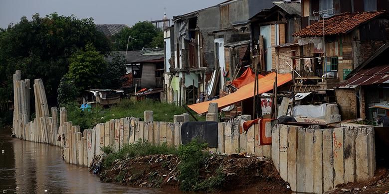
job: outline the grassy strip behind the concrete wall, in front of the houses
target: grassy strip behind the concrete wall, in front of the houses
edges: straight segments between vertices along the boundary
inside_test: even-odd
[[[123,99],[111,108],[96,106],[90,111],[81,111],[77,103],[70,103],[66,106],[67,119],[73,125],[79,125],[81,130],[92,128],[97,123],[103,123],[110,119],[137,117],[143,119],[145,110],[154,111],[154,121],[173,122],[173,116],[187,112],[184,107],[176,104],[159,102],[151,99],[134,101]],[[195,112],[193,112],[196,115]],[[196,116],[198,120],[205,120],[204,117]],[[192,117],[190,118],[193,119]]]

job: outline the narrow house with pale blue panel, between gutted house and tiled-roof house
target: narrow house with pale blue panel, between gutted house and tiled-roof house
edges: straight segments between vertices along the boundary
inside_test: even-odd
[[[299,53],[292,34],[300,30],[301,4],[297,1],[273,4],[250,18],[253,66],[259,64],[261,72],[289,73],[291,66],[296,69],[297,63],[291,57]]]

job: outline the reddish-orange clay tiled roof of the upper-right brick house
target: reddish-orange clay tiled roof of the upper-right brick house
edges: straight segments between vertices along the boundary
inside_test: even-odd
[[[346,34],[355,29],[359,25],[368,22],[377,16],[384,14],[384,11],[372,12],[353,12],[334,15],[329,19],[325,19],[325,34],[338,35]],[[323,36],[323,21],[318,21],[306,28],[296,32],[293,36],[313,37]]]

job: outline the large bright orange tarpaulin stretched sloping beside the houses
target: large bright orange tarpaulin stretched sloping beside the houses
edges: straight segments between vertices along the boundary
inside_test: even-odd
[[[273,90],[274,77],[276,73],[270,73],[263,78],[258,79],[258,93],[266,93]],[[292,80],[292,74],[278,74],[277,85],[281,86]],[[238,101],[250,98],[254,96],[254,82],[243,86],[236,92],[229,94],[225,97],[221,97],[211,101],[205,101],[197,104],[189,105],[188,107],[197,112],[198,114],[205,113],[208,111],[209,103],[217,103],[218,108],[224,108]]]

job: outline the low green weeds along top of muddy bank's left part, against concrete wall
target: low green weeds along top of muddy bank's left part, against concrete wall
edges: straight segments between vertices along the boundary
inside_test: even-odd
[[[138,140],[134,144],[123,145],[119,152],[111,152],[112,148],[105,147],[102,150],[107,151],[107,157],[104,158],[103,167],[109,169],[115,160],[122,160],[126,157],[132,158],[136,156],[147,156],[154,154],[177,154],[177,148],[175,146],[169,146],[166,143],[161,145],[154,145],[147,141]]]

